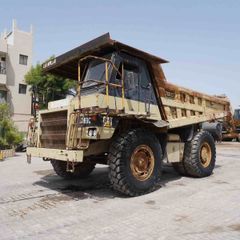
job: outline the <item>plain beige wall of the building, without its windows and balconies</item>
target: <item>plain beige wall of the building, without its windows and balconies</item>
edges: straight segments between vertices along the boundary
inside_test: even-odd
[[[32,66],[33,32],[32,30],[29,32],[19,30],[16,22],[13,21],[12,31],[8,34],[5,33],[5,36],[3,34],[2,39],[7,43],[7,102],[11,107],[12,118],[18,129],[26,132],[31,115],[31,94],[29,86],[27,86],[26,93],[19,93],[19,84],[26,85],[24,76]],[[27,56],[27,65],[20,64],[20,55]]]

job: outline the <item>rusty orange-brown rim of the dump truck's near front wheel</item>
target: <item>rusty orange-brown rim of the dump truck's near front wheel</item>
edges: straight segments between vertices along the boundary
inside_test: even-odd
[[[139,181],[147,180],[154,169],[154,155],[153,151],[147,145],[138,146],[130,160],[130,168],[133,176]]]

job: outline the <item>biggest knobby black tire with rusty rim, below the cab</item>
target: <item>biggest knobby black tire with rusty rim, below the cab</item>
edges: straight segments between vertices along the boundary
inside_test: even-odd
[[[159,187],[162,150],[156,136],[144,129],[130,130],[110,146],[109,179],[115,189],[139,196]]]

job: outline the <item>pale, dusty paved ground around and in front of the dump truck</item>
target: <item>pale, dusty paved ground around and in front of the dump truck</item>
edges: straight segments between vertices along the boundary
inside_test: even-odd
[[[128,198],[108,168],[66,181],[25,154],[0,162],[0,239],[240,239],[240,144],[217,145],[214,174],[194,179],[164,168],[161,188]]]

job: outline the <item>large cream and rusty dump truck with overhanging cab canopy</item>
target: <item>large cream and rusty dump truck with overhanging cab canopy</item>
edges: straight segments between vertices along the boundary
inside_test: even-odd
[[[229,101],[168,83],[164,63],[109,34],[45,62],[46,73],[78,87],[39,111],[28,161],[49,160],[68,179],[107,164],[113,189],[129,196],[159,186],[163,161],[182,175],[209,176]]]

